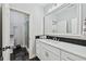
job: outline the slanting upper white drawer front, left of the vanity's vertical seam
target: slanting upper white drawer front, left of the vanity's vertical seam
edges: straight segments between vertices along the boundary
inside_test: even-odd
[[[47,50],[50,50],[52,51],[56,55],[60,55],[60,49],[56,48],[56,47],[52,47],[52,46],[49,46],[47,43],[41,43],[44,48],[46,48]]]

